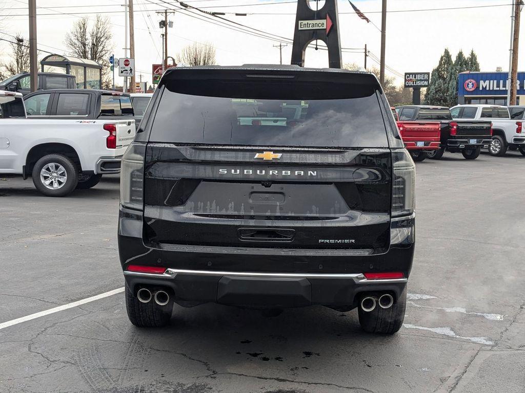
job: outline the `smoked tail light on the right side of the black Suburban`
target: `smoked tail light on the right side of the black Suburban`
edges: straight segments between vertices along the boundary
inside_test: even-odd
[[[414,212],[415,165],[408,151],[392,151],[392,216],[402,216]]]

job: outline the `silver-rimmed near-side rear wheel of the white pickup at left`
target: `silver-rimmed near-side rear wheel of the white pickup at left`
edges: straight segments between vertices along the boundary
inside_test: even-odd
[[[78,171],[75,163],[61,154],[40,158],[31,174],[38,191],[46,196],[66,196],[77,187]]]

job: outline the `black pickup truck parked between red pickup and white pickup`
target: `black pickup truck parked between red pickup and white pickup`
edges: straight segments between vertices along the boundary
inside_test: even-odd
[[[452,119],[446,106],[405,105],[396,107],[396,112],[405,121],[436,121],[441,124],[441,143],[437,150],[427,151],[427,157],[439,160],[445,150],[461,152],[463,157],[474,160],[479,157],[481,148],[488,147],[492,137],[490,121]]]

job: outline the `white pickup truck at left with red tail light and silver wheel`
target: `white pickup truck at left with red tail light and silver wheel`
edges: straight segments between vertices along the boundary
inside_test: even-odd
[[[22,94],[0,91],[0,174],[31,177],[47,196],[91,188],[103,174],[120,173],[121,156],[135,137],[133,119],[26,115]]]

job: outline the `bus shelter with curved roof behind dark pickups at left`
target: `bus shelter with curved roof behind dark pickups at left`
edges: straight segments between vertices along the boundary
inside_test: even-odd
[[[40,61],[42,72],[75,75],[77,89],[101,89],[102,65],[93,60],[50,54]]]

